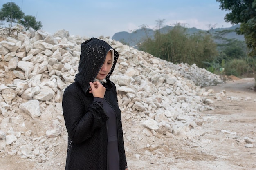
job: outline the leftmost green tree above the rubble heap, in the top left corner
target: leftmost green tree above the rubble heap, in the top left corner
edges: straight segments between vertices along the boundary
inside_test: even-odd
[[[24,13],[14,2],[7,2],[6,4],[3,4],[0,10],[0,20],[10,22],[10,26],[12,26],[13,22],[17,23],[23,18],[23,16]]]

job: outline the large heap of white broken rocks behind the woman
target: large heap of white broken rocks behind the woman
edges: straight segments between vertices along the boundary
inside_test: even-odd
[[[62,95],[78,71],[80,44],[89,38],[65,30],[54,35],[19,30],[0,42],[0,155],[49,161],[63,169],[65,162],[50,162],[66,152],[60,148],[67,140]],[[213,109],[213,101],[205,97],[213,92],[200,86],[223,83],[219,76],[99,38],[119,52],[110,79],[117,86],[128,157],[142,157],[141,141],[146,142],[146,155],[152,155],[159,148],[168,150],[170,138],[193,141],[205,134],[201,125],[206,119],[199,112]]]

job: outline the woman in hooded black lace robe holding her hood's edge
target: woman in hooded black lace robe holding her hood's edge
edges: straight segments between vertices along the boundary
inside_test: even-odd
[[[117,59],[118,52],[103,40],[81,44],[78,73],[63,94],[65,170],[127,170],[121,111],[109,79]]]

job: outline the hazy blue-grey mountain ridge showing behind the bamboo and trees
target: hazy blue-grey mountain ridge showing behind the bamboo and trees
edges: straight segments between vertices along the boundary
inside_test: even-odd
[[[239,26],[240,25],[234,25],[234,26],[231,26],[229,28],[216,28],[216,29],[211,29],[209,31],[214,33],[216,31],[235,30]],[[170,31],[171,29],[173,29],[173,26],[165,26],[165,27],[159,29],[159,31],[160,31],[160,33],[165,34],[165,33],[168,33],[168,31]],[[188,34],[193,34],[193,33],[196,33],[198,31],[208,31],[208,30],[197,29],[195,27],[187,29]],[[144,38],[146,38],[146,37],[153,38],[154,37],[154,32],[155,31],[153,29],[148,29],[148,28],[138,29],[138,30],[133,31],[131,33],[128,33],[126,31],[122,31],[122,32],[115,33],[113,35],[112,39],[120,41],[123,44],[128,44],[129,46],[136,46],[138,43],[143,42]],[[245,40],[243,35],[237,35],[236,32],[228,33],[225,36],[225,38],[228,38],[228,39],[235,38],[235,39],[241,40],[241,41]]]

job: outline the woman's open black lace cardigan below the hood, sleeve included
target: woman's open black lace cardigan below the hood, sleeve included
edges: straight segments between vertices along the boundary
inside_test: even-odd
[[[121,111],[118,106],[116,87],[108,80],[105,99],[117,115],[120,170],[127,168]],[[106,84],[106,85],[107,85]],[[107,170],[107,115],[93,95],[85,94],[74,82],[63,94],[63,115],[68,132],[65,170]]]

